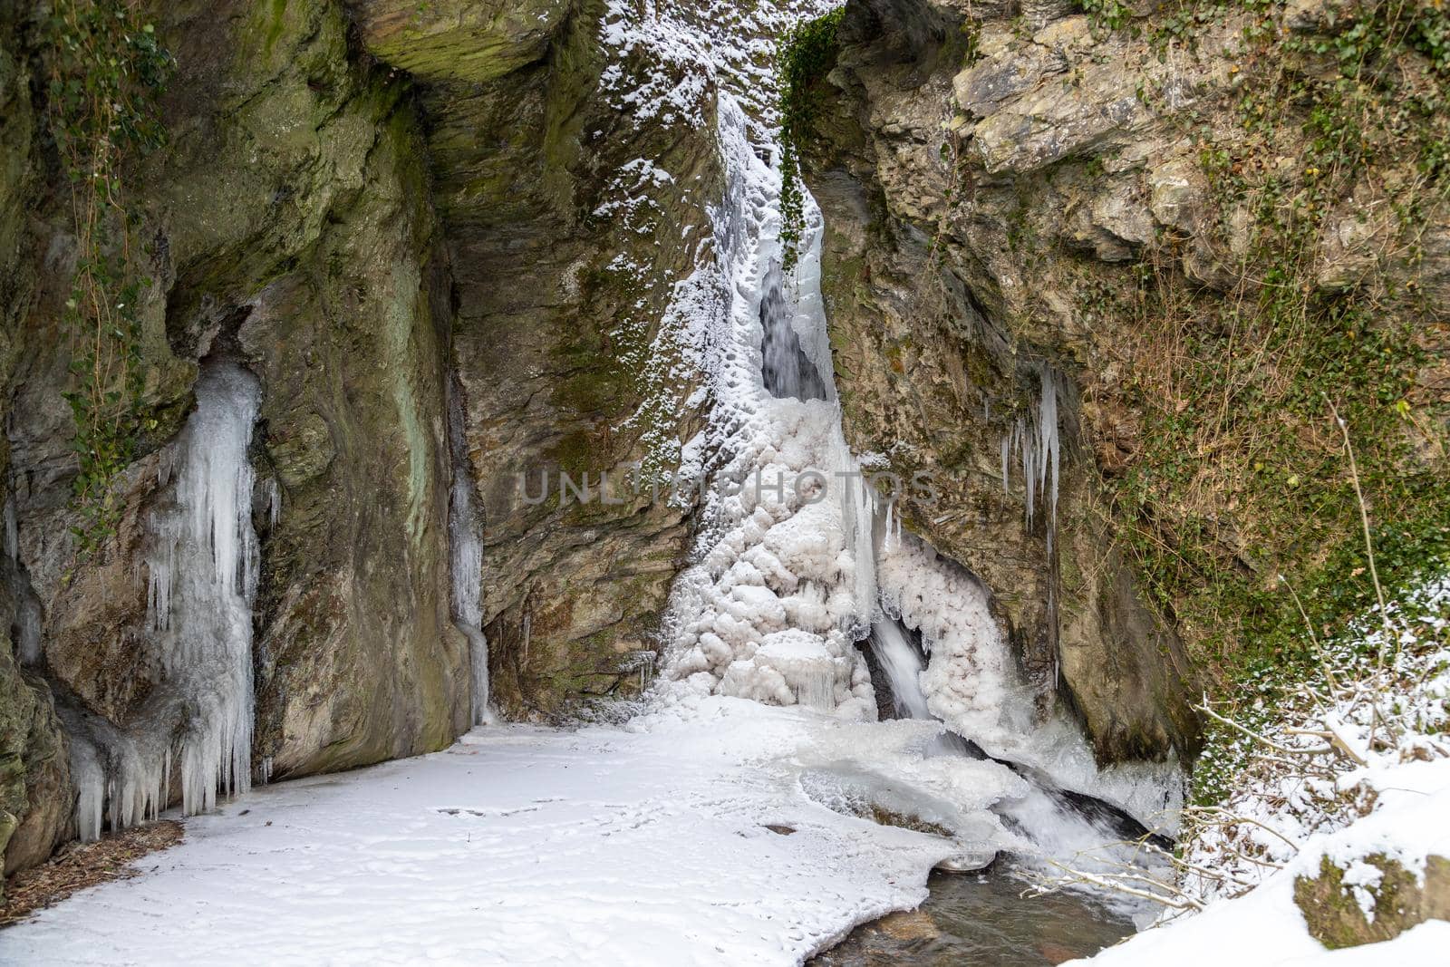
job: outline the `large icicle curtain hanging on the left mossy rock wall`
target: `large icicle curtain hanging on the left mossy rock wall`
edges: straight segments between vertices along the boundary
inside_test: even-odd
[[[251,787],[258,544],[246,448],[260,396],[236,362],[206,362],[196,410],[162,457],[145,564],[146,644],[164,683],[125,729],[74,713],[84,839],[100,835],[106,803],[112,828],[155,818],[173,770],[187,815],[215,806],[219,792]]]

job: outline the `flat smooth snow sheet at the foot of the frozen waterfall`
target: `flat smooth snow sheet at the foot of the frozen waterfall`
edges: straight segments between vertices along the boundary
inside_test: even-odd
[[[900,751],[932,734],[726,697],[625,728],[486,726],[194,816],[154,871],[0,932],[0,963],[793,964],[918,903],[960,850],[819,800],[916,786],[970,810],[1021,786]]]

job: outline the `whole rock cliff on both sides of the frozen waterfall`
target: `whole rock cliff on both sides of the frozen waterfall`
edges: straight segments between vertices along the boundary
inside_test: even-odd
[[[133,736],[184,744],[206,706],[167,671],[157,577],[215,367],[260,393],[258,780],[442,748],[471,722],[480,632],[505,716],[641,687],[697,506],[624,481],[677,467],[712,404],[680,306],[721,296],[699,274],[716,91],[767,132],[751,78],[825,9],[122,4],[129,26],[84,36],[167,74],[165,136],[132,119],[145,149],[107,155],[87,222],[67,93],[136,75],[94,77],[55,32],[116,3],[0,4],[7,868],[80,829],[84,750],[119,781]],[[1088,6],[850,0],[787,97],[853,449],[929,478],[893,513],[989,589],[1043,710],[1072,709],[1102,763],[1186,761],[1273,576],[1359,574],[1324,397],[1389,468],[1364,476],[1376,523],[1443,526],[1450,222],[1424,188],[1450,155],[1424,78],[1446,65],[1391,25],[1367,96],[1320,49],[1353,42],[1338,6]],[[1270,80],[1285,96],[1256,100]],[[129,287],[96,281],[117,264]],[[125,293],[102,306],[123,322],[77,328],[77,278]],[[96,346],[122,377],[97,383]],[[117,402],[125,432],[97,439]],[[608,474],[624,503],[566,499],[560,474],[596,497]],[[1306,613],[1360,584],[1317,577]]]

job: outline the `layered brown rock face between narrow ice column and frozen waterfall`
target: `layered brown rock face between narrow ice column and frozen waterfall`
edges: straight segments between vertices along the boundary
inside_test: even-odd
[[[597,3],[354,10],[367,49],[418,80],[428,117],[494,700],[552,715],[628,690],[689,528],[686,506],[637,499],[626,477],[677,465],[700,425],[661,320],[708,233],[719,165],[709,125],[622,107],[610,88],[651,71],[676,84],[689,65],[610,49],[602,19],[619,14]],[[713,88],[679,107],[712,116]],[[561,473],[587,478],[587,503],[561,497]],[[603,503],[600,474],[626,503]]]

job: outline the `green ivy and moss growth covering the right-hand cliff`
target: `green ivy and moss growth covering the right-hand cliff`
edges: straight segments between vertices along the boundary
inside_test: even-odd
[[[1079,287],[1085,316],[1127,319],[1146,346],[1121,390],[1140,445],[1109,481],[1122,549],[1215,697],[1248,718],[1317,674],[1306,621],[1324,636],[1376,603],[1337,418],[1386,594],[1450,568],[1450,441],[1443,407],[1418,386],[1440,309],[1406,271],[1450,196],[1444,14],[1370,1],[1296,35],[1270,29],[1280,9],[1248,4],[1248,75],[1217,106],[1235,128],[1185,130],[1219,219],[1215,248],[1234,241],[1222,268],[1240,283],[1188,283],[1164,239],[1148,261]],[[1125,9],[1088,10],[1111,22]],[[1190,45],[1228,12],[1205,0],[1151,23],[1163,45]],[[1362,210],[1366,186],[1393,213],[1382,251],[1411,255],[1380,254],[1351,281],[1325,283],[1328,216]],[[1021,235],[1011,244],[1031,248]],[[1208,745],[1199,802],[1224,793],[1241,757],[1215,729]]]

